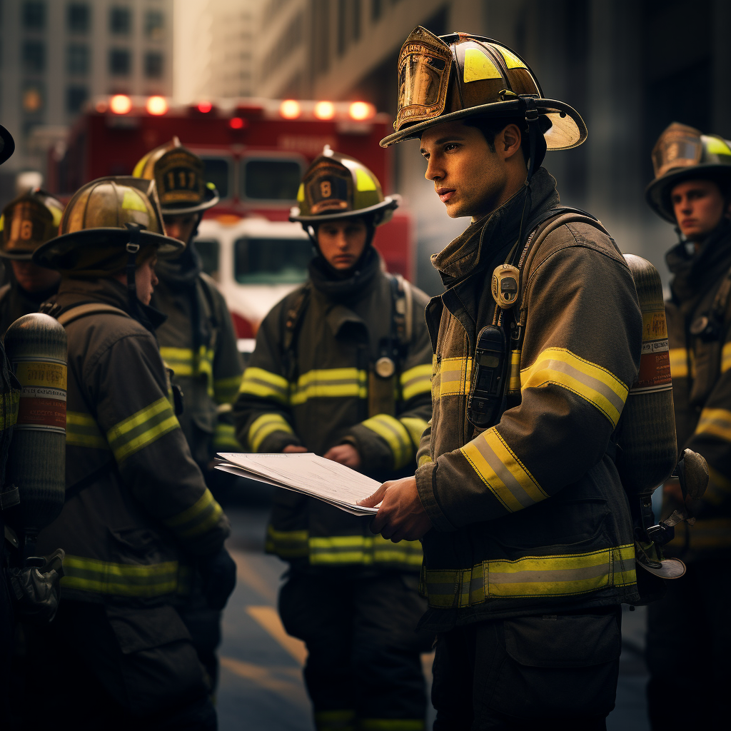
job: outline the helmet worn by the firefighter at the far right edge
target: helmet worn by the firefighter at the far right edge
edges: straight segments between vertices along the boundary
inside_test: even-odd
[[[645,200],[658,216],[675,223],[670,192],[682,181],[708,178],[724,188],[731,184],[731,141],[718,135],[673,122],[658,137],[652,150],[655,179],[645,190]]]

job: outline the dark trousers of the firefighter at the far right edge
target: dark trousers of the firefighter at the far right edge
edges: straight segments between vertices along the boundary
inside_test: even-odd
[[[648,710],[654,731],[721,729],[731,700],[731,568],[727,561],[688,564],[648,607]]]

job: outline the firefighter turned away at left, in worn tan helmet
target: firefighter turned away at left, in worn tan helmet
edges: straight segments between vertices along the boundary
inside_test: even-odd
[[[229,525],[175,417],[153,334],[162,316],[148,306],[156,257],[183,244],[164,235],[154,181],[132,177],[83,186],[59,234],[33,260],[61,272],[49,312],[68,336],[67,493],[38,545],[64,548],[65,576],[58,616],[29,650],[54,678],[29,726],[213,730],[176,605],[195,569],[222,609]]]

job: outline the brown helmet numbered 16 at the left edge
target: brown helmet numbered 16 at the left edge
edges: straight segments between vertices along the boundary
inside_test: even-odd
[[[64,205],[40,188],[11,200],[0,216],[0,257],[29,260],[42,244],[58,236]]]

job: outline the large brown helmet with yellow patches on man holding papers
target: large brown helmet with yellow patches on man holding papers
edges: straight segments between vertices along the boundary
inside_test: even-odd
[[[388,147],[428,127],[471,116],[539,115],[549,150],[586,140],[586,125],[564,102],[545,99],[528,64],[503,43],[468,33],[435,36],[417,26],[398,55],[398,112]]]

